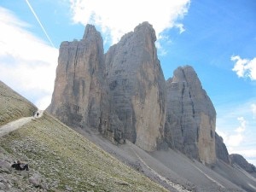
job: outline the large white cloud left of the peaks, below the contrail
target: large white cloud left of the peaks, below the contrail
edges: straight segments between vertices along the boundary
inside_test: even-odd
[[[50,102],[58,49],[27,31],[28,24],[0,7],[0,77],[4,83],[38,105]],[[38,108],[46,108],[49,102]]]

